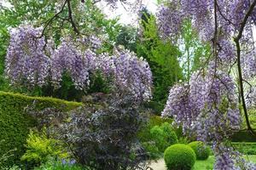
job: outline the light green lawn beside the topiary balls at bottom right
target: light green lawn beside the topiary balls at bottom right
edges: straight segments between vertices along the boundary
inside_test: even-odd
[[[253,161],[256,163],[256,156],[244,156],[247,160]],[[206,161],[195,161],[195,166],[193,170],[212,170],[214,163],[214,157],[209,156],[209,158]]]

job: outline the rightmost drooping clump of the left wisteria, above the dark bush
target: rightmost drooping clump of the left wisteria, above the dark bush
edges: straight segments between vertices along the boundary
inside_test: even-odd
[[[151,99],[152,73],[148,62],[138,59],[127,50],[116,51],[112,59],[115,86],[121,91],[127,91],[135,99]]]

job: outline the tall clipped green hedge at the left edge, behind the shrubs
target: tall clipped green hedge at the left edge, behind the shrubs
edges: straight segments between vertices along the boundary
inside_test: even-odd
[[[30,127],[35,127],[37,122],[32,116],[25,113],[24,109],[36,102],[36,109],[42,110],[55,107],[70,111],[81,103],[68,102],[66,100],[49,97],[29,97],[23,94],[13,94],[0,91],[0,158],[9,150],[16,149],[14,156],[2,163],[10,166],[19,163],[20,156],[25,153],[26,138]],[[1,165],[1,163],[0,163]]]

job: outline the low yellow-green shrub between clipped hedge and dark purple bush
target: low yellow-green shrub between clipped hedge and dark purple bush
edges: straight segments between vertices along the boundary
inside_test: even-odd
[[[31,131],[26,139],[26,153],[20,160],[39,164],[52,157],[67,158],[67,156],[61,141],[47,138],[45,131],[40,134]]]

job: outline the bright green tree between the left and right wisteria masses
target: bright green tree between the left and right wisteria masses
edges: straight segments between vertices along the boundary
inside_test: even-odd
[[[143,33],[137,41],[137,55],[148,60],[154,77],[153,101],[161,111],[167,99],[168,90],[175,82],[183,80],[183,71],[178,58],[181,53],[177,46],[160,39],[156,20],[153,15],[143,15]]]

